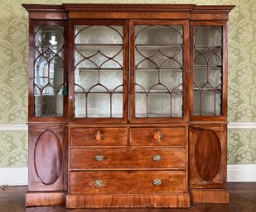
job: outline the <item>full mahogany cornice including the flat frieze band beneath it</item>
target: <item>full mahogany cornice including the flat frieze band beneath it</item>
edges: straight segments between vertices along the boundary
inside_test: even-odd
[[[186,19],[228,20],[234,5],[196,4],[22,4],[31,20],[67,19]]]

